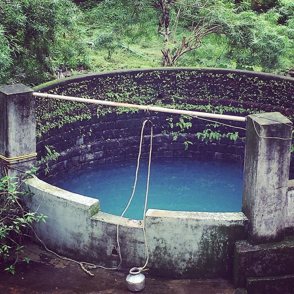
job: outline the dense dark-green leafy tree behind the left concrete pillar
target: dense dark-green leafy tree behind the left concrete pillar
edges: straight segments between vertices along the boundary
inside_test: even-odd
[[[71,0],[0,0],[0,7],[0,85],[44,82],[54,59],[81,53]]]

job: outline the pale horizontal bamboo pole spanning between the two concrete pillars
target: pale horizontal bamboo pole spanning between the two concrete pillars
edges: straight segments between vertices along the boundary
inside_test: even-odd
[[[227,119],[230,121],[246,121],[246,118],[243,116],[232,116],[232,115],[190,111],[190,110],[174,109],[174,108],[166,108],[166,107],[158,107],[158,106],[137,105],[137,104],[130,104],[130,103],[112,102],[107,100],[96,100],[96,99],[87,99],[87,98],[79,98],[79,97],[71,97],[71,96],[53,95],[53,94],[39,93],[39,92],[34,92],[33,95],[36,97],[61,99],[61,100],[75,101],[75,102],[82,102],[82,103],[93,103],[93,104],[100,104],[100,105],[107,105],[107,106],[137,108],[137,109],[143,109],[143,110],[149,110],[149,111],[176,113],[176,114],[184,114],[184,115],[190,115],[190,116],[208,117],[208,118],[214,118],[214,119]]]

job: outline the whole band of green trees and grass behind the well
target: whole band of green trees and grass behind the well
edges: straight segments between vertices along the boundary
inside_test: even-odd
[[[36,85],[57,72],[160,65],[276,73],[293,67],[293,0],[77,5],[0,0],[0,84]]]

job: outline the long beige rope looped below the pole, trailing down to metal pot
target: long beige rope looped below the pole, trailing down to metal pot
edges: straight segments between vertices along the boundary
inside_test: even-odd
[[[147,253],[147,257],[146,257],[146,262],[145,264],[143,265],[143,267],[140,268],[141,271],[144,271],[144,270],[147,270],[145,269],[146,266],[147,266],[147,263],[148,263],[148,260],[149,260],[149,251],[148,251],[148,246],[147,246],[147,238],[146,238],[146,231],[145,231],[145,217],[146,217],[146,207],[147,207],[147,200],[148,200],[148,191],[149,191],[149,178],[150,178],[150,166],[151,166],[151,151],[152,151],[152,136],[153,136],[153,125],[152,125],[152,122],[148,119],[146,119],[144,122],[143,122],[143,125],[142,125],[142,130],[141,130],[141,138],[140,138],[140,145],[139,145],[139,154],[138,154],[138,159],[137,159],[137,168],[136,168],[136,174],[135,174],[135,182],[134,182],[134,186],[133,186],[133,192],[131,194],[131,197],[130,197],[130,200],[128,201],[128,204],[126,206],[126,208],[124,209],[123,213],[121,214],[119,220],[118,220],[118,224],[116,226],[116,242],[117,242],[117,245],[118,245],[118,255],[119,255],[119,264],[117,267],[115,268],[107,268],[105,266],[102,266],[102,265],[95,265],[93,263],[88,263],[88,262],[80,262],[80,261],[77,261],[77,260],[74,260],[72,258],[68,258],[68,257],[65,257],[65,256],[62,256],[62,255],[59,255],[57,254],[56,252],[50,250],[47,248],[47,246],[45,245],[45,243],[39,238],[39,236],[37,235],[36,231],[34,230],[34,228],[30,226],[30,228],[32,229],[32,231],[34,232],[34,235],[36,236],[36,238],[39,240],[39,242],[44,246],[44,248],[56,255],[57,257],[61,258],[61,259],[64,259],[64,260],[68,260],[68,261],[71,261],[71,262],[74,262],[74,263],[77,263],[81,266],[81,268],[86,272],[88,273],[89,275],[93,276],[94,274],[91,273],[91,271],[87,270],[84,265],[88,265],[88,268],[92,269],[92,268],[102,268],[102,269],[105,269],[105,270],[117,270],[120,266],[121,266],[121,263],[122,263],[122,257],[121,257],[121,248],[120,248],[120,245],[119,245],[119,225],[121,223],[121,219],[123,218],[123,215],[125,214],[125,212],[127,211],[128,207],[130,206],[131,204],[131,201],[134,197],[134,194],[135,194],[135,190],[136,190],[136,185],[137,185],[137,180],[138,180],[138,171],[139,171],[139,165],[140,165],[140,157],[141,157],[141,150],[142,150],[142,142],[143,142],[143,131],[144,131],[144,128],[145,128],[145,125],[147,122],[150,122],[151,123],[151,135],[150,135],[150,151],[149,151],[149,162],[148,162],[148,176],[147,176],[147,188],[146,188],[146,195],[145,195],[145,204],[144,204],[144,212],[143,212],[143,235],[144,235],[144,242],[145,242],[145,248],[146,248],[146,253]],[[10,168],[13,168],[12,166],[6,166],[7,167],[10,167]],[[4,168],[5,169],[5,168]],[[6,170],[5,170],[5,173],[6,173]],[[6,173],[6,176],[7,176],[7,173]],[[21,205],[17,202],[17,204],[21,207]],[[22,209],[22,207],[21,207]]]

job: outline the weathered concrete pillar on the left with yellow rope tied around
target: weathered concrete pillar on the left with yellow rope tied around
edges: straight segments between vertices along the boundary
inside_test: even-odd
[[[0,154],[6,158],[36,152],[35,98],[33,90],[23,84],[0,87]],[[0,173],[4,176],[4,164],[27,171],[36,158],[8,163],[0,158]],[[9,169],[9,176],[21,176]]]

